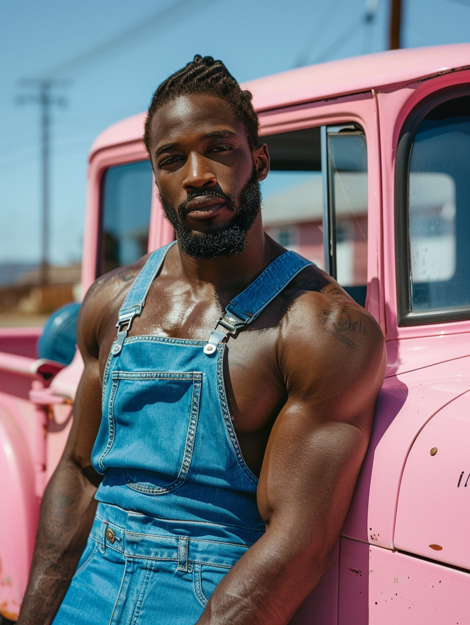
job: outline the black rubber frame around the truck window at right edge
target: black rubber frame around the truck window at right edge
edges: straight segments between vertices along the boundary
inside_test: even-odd
[[[409,167],[414,138],[428,113],[449,100],[470,95],[470,84],[440,89],[423,98],[404,121],[395,156],[394,241],[398,326],[423,326],[470,319],[470,304],[431,311],[411,309],[411,250],[409,240]]]

